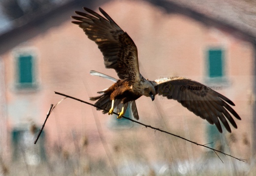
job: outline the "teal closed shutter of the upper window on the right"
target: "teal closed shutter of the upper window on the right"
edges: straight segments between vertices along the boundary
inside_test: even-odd
[[[208,50],[209,77],[223,76],[223,51],[210,49]]]

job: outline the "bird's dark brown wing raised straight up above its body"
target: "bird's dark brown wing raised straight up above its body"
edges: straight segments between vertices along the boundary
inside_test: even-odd
[[[115,69],[120,79],[140,79],[137,47],[128,36],[101,8],[105,16],[84,7],[87,13],[75,11],[80,17],[72,23],[79,25],[89,39],[94,41],[104,56],[106,68]]]

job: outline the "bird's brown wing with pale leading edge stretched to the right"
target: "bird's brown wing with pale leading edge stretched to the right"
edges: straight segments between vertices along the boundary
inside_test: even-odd
[[[195,115],[206,119],[210,124],[215,124],[220,132],[222,127],[219,120],[228,132],[231,132],[231,129],[227,120],[237,128],[230,114],[241,120],[234,109],[228,105],[234,106],[232,101],[199,82],[185,77],[167,77],[150,82],[157,94],[180,102]]]

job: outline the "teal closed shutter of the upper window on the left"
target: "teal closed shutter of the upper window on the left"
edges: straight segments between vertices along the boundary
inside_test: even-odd
[[[18,81],[19,83],[32,83],[32,55],[20,55],[18,57]]]

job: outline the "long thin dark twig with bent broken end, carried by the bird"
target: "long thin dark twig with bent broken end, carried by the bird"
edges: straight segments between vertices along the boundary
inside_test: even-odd
[[[101,110],[108,111],[107,109],[103,109],[103,108],[101,108],[101,107],[99,107],[99,106],[96,106],[95,104],[90,103],[90,102],[82,101],[82,100],[80,100],[80,99],[77,99],[77,98],[74,98],[74,97],[71,97],[71,96],[68,96],[68,95],[59,93],[59,92],[55,92],[55,94],[64,96],[65,98],[70,98],[70,99],[73,99],[73,100],[76,100],[76,101],[80,101],[80,102],[89,104],[89,105],[94,106],[94,107],[97,107],[97,108],[99,108],[99,109],[101,109]],[[64,99],[63,99],[63,100],[64,100]],[[62,100],[62,101],[63,101],[63,100]],[[60,102],[59,102],[59,103],[60,103]],[[59,104],[59,103],[57,103],[57,104]],[[56,105],[57,105],[57,104],[56,104]],[[118,113],[116,113],[116,112],[113,112],[113,114],[118,115]],[[50,115],[50,114],[49,114],[49,115]],[[49,115],[47,114],[46,120],[47,120],[47,118],[49,117]],[[181,137],[181,136],[178,136],[178,135],[176,135],[176,134],[173,134],[173,133],[170,133],[170,132],[161,130],[161,129],[156,128],[156,127],[153,127],[153,126],[149,126],[149,125],[142,124],[142,123],[140,123],[140,122],[138,122],[138,121],[134,121],[134,120],[132,120],[132,119],[130,119],[130,118],[128,118],[128,117],[123,116],[122,118],[127,119],[127,120],[129,120],[129,121],[131,121],[131,122],[134,122],[134,123],[136,123],[136,124],[145,126],[146,128],[147,128],[147,127],[150,127],[150,128],[152,128],[152,129],[155,129],[155,131],[160,131],[160,132],[163,132],[163,133],[166,133],[166,134],[169,134],[169,135],[178,137],[178,138],[183,139],[183,140],[185,140],[185,141],[191,142],[191,143],[193,143],[193,144],[195,144],[195,145],[197,145],[197,146],[205,147],[205,148],[207,148],[207,149],[210,149],[210,150],[214,151],[216,154],[217,154],[217,152],[219,152],[219,153],[224,154],[225,156],[230,156],[230,157],[235,158],[235,159],[237,159],[237,160],[239,160],[239,161],[243,161],[243,162],[246,161],[246,159],[240,159],[240,158],[234,157],[234,156],[232,156],[232,155],[230,155],[230,154],[227,154],[227,153],[224,153],[224,152],[222,152],[222,151],[219,151],[219,150],[216,150],[216,149],[213,149],[213,148],[210,148],[210,147],[207,147],[207,146],[206,146],[206,145],[212,144],[212,143],[208,143],[208,144],[204,144],[204,145],[198,144],[198,143],[196,143],[196,142],[193,142],[193,141],[191,141],[191,140],[188,140],[188,139],[186,139],[186,138],[184,138],[184,137]],[[46,122],[46,120],[45,120],[45,122]],[[44,123],[44,125],[45,125],[45,123]],[[44,126],[44,125],[43,125],[43,126]],[[43,126],[42,126],[42,127],[43,127]],[[39,134],[38,134],[37,136],[39,137]],[[36,141],[35,141],[35,142],[36,142]],[[34,143],[34,144],[35,144],[35,143]],[[217,151],[217,152],[216,152],[216,151]],[[220,156],[219,156],[218,154],[217,154],[217,156],[220,158]],[[223,160],[222,160],[221,158],[220,158],[220,160],[223,162]],[[223,162],[223,163],[224,163],[224,162]]]

